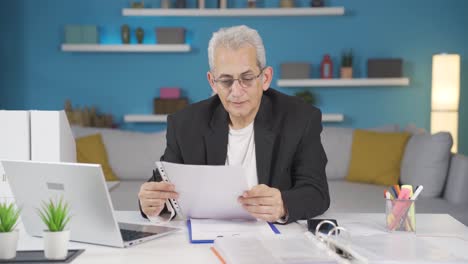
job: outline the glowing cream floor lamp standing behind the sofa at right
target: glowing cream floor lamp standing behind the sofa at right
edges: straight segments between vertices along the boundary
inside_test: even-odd
[[[447,131],[458,150],[458,105],[460,101],[460,55],[432,57],[431,133]]]

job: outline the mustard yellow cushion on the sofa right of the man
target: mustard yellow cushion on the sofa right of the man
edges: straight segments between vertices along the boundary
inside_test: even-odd
[[[408,133],[355,130],[346,180],[378,185],[398,184]]]

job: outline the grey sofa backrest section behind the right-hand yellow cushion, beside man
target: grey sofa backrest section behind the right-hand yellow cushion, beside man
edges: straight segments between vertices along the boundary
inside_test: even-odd
[[[382,127],[370,128],[377,132],[398,132],[399,126],[390,124]],[[353,143],[352,128],[324,127],[321,139],[327,154],[328,163],[325,168],[327,179],[344,179],[348,174],[351,159],[351,145]]]

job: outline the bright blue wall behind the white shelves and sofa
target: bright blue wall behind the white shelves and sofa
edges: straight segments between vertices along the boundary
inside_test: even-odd
[[[345,6],[346,16],[262,18],[124,17],[127,0],[18,0],[0,11],[0,107],[59,109],[96,105],[119,123],[128,113],[151,113],[162,86],[178,86],[191,102],[210,94],[206,82],[207,44],[219,27],[246,24],[262,35],[268,64],[276,70],[286,61],[313,63],[316,77],[322,56],[330,53],[338,74],[344,49],[355,53],[356,77],[365,77],[369,57],[404,58],[408,87],[314,88],[324,113],[344,113],[340,126],[373,127],[388,123],[430,125],[431,58],[435,53],[462,56],[460,152],[468,153],[468,1],[466,0],[329,0]],[[194,5],[195,1],[189,1]],[[208,1],[213,5],[215,1]],[[233,2],[233,1],[231,1]],[[246,1],[235,1],[246,2]],[[277,5],[276,1],[264,1]],[[303,5],[309,1],[297,1]],[[159,6],[159,0],[145,1]],[[237,4],[240,6],[240,4]],[[145,42],[158,26],[188,30],[190,53],[67,53],[60,51],[66,24],[97,24],[101,42],[119,43],[122,24],[142,26]],[[134,41],[134,40],[133,40]],[[279,89],[292,94],[299,89]],[[159,130],[164,126],[122,124],[125,129]]]

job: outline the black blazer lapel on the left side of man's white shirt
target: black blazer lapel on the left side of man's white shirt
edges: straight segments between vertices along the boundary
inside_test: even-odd
[[[220,104],[215,109],[210,129],[204,136],[207,165],[224,165],[229,134],[228,114]]]

